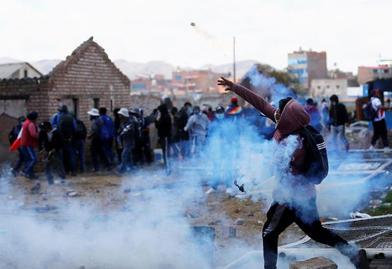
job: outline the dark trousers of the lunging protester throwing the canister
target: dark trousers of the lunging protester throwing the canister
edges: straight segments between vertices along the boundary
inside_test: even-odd
[[[337,248],[344,253],[347,242],[331,230],[321,226],[316,197],[291,204],[273,202],[263,227],[264,268],[276,269],[278,237],[291,224],[298,225],[313,240]],[[344,253],[345,254],[345,253]]]

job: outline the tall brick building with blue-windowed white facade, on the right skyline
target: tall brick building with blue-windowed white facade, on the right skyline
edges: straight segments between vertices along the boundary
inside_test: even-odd
[[[288,54],[289,73],[298,79],[301,89],[309,89],[313,79],[328,78],[325,51],[294,51]]]

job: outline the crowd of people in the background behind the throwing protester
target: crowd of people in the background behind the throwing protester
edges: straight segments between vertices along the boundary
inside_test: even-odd
[[[373,90],[371,95],[370,101],[377,115],[373,120],[374,134],[370,149],[374,149],[378,138],[382,138],[385,148],[388,149],[384,111],[392,108],[381,105],[379,90]],[[326,132],[331,133],[332,143],[329,151],[338,151],[338,137],[344,149],[348,151],[349,142],[345,138],[344,128],[350,124],[350,118],[346,107],[339,102],[335,94],[329,101],[330,105],[323,99],[319,110],[313,99],[306,100],[304,110],[310,116],[309,124],[324,136]],[[13,175],[17,176],[22,164],[25,163],[21,174],[36,179],[33,168],[38,161],[37,153],[45,162],[50,184],[53,183],[52,158],[55,160],[56,174],[60,179],[65,179],[67,174],[76,176],[77,173],[83,173],[86,171],[86,139],[90,140],[91,171],[114,170],[121,175],[135,171],[137,166],[151,164],[154,158],[151,151],[152,141],[156,143],[154,148],[162,149],[164,167],[167,175],[170,175],[173,160],[205,158],[207,154],[211,154],[211,151],[207,151],[212,145],[215,148],[219,145],[219,149],[214,150],[215,156],[220,156],[223,152],[231,156],[238,154],[239,137],[244,127],[241,122],[246,121],[237,97],[232,97],[226,108],[219,106],[213,109],[206,104],[192,106],[190,102],[185,102],[178,110],[172,104],[169,109],[168,104],[162,102],[147,116],[139,108],[114,109],[113,118],[107,114],[104,107],[93,108],[87,114],[91,120],[91,130],[87,130],[84,122],[76,118],[74,112],[69,111],[66,105],[60,105],[58,112],[50,121],[36,123],[37,112],[30,112],[27,118],[19,117],[12,135],[10,134],[10,137],[15,139],[23,127],[21,146],[17,148],[19,158],[13,166]],[[151,125],[155,126],[156,134],[151,134]],[[273,134],[274,130],[266,138],[272,138]],[[10,139],[10,142],[13,140]],[[227,160],[219,163],[214,161],[213,183],[207,193],[216,191],[221,170],[225,171],[225,181],[232,181],[232,163]],[[227,192],[230,191],[227,183]]]

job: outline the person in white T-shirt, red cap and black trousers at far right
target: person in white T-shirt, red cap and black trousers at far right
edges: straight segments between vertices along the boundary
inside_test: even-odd
[[[373,136],[371,137],[369,150],[374,150],[376,141],[381,137],[384,145],[384,150],[389,151],[388,146],[388,129],[385,122],[385,111],[392,110],[391,107],[386,107],[381,103],[380,89],[370,91],[370,102],[373,111],[376,112],[375,118],[372,120]]]

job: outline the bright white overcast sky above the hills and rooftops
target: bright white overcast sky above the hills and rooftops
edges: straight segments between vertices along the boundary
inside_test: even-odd
[[[357,73],[392,59],[391,0],[0,0],[0,57],[64,60],[94,36],[111,60],[204,64],[326,51],[328,68]],[[192,27],[191,22],[196,23]]]

